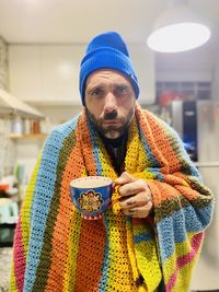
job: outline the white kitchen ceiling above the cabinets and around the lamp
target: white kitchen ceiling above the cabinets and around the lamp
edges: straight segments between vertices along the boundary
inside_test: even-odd
[[[128,43],[145,43],[169,0],[0,0],[0,36],[8,43],[88,43],[95,34],[117,31]],[[188,52],[215,62],[219,51],[219,0],[191,0],[209,22],[212,36]],[[170,55],[174,59],[173,54]],[[178,55],[177,55],[178,56]],[[186,55],[184,55],[186,56]],[[177,58],[177,57],[175,57]],[[158,54],[163,60],[163,54]],[[169,56],[165,61],[169,62]],[[171,61],[170,60],[170,61]],[[164,63],[165,63],[164,61]]]

